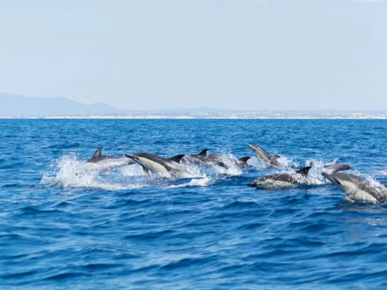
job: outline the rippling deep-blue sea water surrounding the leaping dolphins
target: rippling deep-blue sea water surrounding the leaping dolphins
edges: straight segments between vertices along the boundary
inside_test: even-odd
[[[352,203],[326,163],[387,183],[385,120],[0,120],[0,288],[386,288],[387,206]],[[78,174],[105,155],[257,144],[313,161],[310,184],[255,190],[292,169],[184,166],[167,181],[132,165]]]

